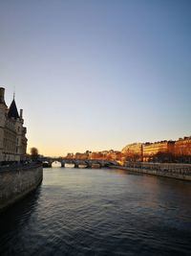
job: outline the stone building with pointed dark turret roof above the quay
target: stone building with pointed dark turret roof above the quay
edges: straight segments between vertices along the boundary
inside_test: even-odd
[[[5,89],[0,87],[0,164],[24,160],[27,150],[23,110],[18,113],[14,99],[8,107],[4,94]]]

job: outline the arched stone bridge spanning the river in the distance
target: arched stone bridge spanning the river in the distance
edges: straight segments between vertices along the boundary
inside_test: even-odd
[[[117,161],[100,160],[100,159],[66,159],[60,157],[41,157],[39,161],[43,163],[43,167],[52,167],[53,162],[59,162],[61,167],[65,167],[66,164],[73,164],[74,168],[107,168],[110,166],[118,166]]]

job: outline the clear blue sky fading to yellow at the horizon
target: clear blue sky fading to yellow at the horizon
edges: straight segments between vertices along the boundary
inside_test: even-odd
[[[0,0],[0,86],[28,151],[191,135],[191,1]]]

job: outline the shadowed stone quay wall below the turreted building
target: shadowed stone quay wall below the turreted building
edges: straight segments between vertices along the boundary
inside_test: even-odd
[[[36,189],[42,182],[41,164],[25,164],[0,168],[0,211]]]

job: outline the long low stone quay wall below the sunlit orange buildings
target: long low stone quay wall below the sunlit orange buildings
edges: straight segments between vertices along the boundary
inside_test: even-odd
[[[130,162],[112,168],[191,181],[191,164]]]

